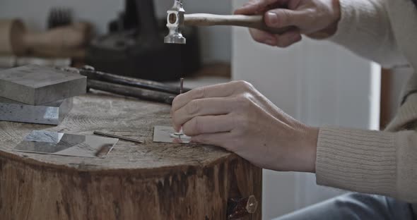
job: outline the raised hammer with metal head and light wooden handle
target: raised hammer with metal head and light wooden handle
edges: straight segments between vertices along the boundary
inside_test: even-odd
[[[164,42],[167,44],[185,44],[186,39],[182,36],[182,27],[190,26],[214,26],[214,25],[232,25],[240,27],[251,27],[264,30],[272,34],[282,34],[293,27],[273,28],[266,26],[264,16],[221,16],[207,13],[185,14],[182,6],[182,0],[174,0],[174,6],[167,11],[167,27],[170,33],[165,37]]]

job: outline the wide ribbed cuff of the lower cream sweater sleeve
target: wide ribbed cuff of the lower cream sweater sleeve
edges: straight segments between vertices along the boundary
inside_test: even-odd
[[[396,183],[394,133],[324,127],[317,142],[317,184],[392,195]]]

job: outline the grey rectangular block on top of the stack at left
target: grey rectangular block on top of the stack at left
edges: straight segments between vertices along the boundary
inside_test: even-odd
[[[56,68],[28,65],[0,71],[0,97],[39,105],[86,93],[87,78]]]

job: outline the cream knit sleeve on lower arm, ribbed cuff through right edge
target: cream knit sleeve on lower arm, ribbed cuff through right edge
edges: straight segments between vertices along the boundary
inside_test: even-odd
[[[417,133],[321,128],[317,184],[417,202]]]

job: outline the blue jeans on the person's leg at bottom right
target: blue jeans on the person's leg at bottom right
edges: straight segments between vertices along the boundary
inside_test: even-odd
[[[382,195],[348,193],[275,220],[413,219],[411,204]]]

